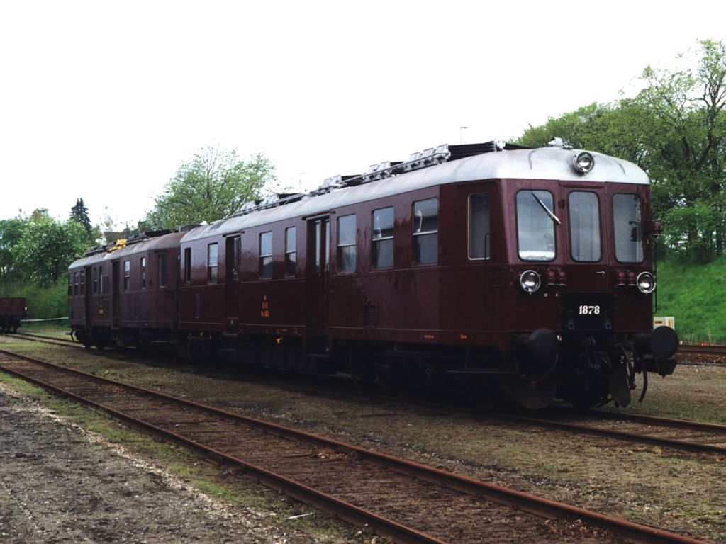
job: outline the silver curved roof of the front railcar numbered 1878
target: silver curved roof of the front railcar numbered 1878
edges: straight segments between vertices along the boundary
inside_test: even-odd
[[[578,149],[538,148],[492,152],[444,162],[353,187],[336,189],[299,202],[237,215],[189,231],[182,242],[238,232],[265,223],[284,221],[303,215],[368,202],[426,187],[486,179],[547,179],[553,181],[592,181],[595,183],[649,184],[648,175],[627,160],[590,152],[595,166],[587,174],[576,173],[571,160]]]

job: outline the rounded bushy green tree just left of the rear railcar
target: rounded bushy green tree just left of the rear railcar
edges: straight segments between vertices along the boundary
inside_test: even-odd
[[[48,287],[65,276],[68,265],[87,247],[88,233],[81,223],[60,223],[47,210],[36,210],[11,253],[26,284]]]

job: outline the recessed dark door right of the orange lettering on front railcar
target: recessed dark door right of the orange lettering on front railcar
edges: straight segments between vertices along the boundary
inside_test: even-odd
[[[311,336],[327,336],[330,297],[330,215],[308,220],[306,328]]]

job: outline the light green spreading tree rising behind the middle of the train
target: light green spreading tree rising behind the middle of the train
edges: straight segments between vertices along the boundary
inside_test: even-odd
[[[274,165],[262,154],[245,162],[234,149],[200,149],[164,186],[141,226],[176,228],[216,221],[259,199],[264,187],[275,180]]]

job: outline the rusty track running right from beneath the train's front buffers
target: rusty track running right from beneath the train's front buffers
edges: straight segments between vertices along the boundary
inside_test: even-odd
[[[583,415],[587,416],[585,421],[582,421]],[[582,413],[558,407],[543,411],[542,417],[504,417],[550,429],[726,456],[726,425],[602,410]],[[567,421],[568,419],[575,421]]]

